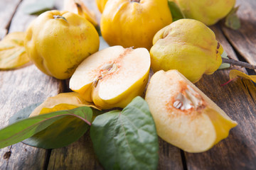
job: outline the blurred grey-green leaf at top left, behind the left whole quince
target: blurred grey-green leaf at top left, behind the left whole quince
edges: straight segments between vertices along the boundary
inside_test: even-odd
[[[40,15],[45,11],[49,11],[54,7],[54,0],[38,0],[31,4],[24,6],[24,13],[31,15]]]

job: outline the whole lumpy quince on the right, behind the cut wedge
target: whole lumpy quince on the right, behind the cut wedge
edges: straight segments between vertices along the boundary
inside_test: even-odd
[[[151,68],[178,69],[195,83],[203,74],[213,74],[222,63],[223,47],[215,34],[200,21],[180,19],[154,35],[150,50]]]

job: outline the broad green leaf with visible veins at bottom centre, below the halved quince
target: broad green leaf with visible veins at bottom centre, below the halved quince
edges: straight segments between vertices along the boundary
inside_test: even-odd
[[[105,169],[156,169],[158,136],[149,107],[136,97],[123,111],[98,115],[90,137]]]

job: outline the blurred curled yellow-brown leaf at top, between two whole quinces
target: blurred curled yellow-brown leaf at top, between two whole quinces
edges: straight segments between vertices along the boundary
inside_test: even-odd
[[[90,11],[81,0],[65,0],[64,11],[70,11],[84,17],[90,21],[93,26],[98,25],[95,13]]]

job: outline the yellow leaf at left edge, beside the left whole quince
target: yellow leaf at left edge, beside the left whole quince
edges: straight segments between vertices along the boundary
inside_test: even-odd
[[[0,69],[14,69],[30,60],[24,47],[25,33],[9,33],[0,41]]]

